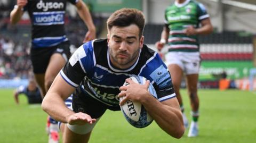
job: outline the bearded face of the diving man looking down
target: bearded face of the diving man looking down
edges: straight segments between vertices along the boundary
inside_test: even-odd
[[[144,37],[139,38],[139,27],[131,24],[128,27],[112,27],[108,31],[110,61],[120,69],[132,66],[139,56]]]

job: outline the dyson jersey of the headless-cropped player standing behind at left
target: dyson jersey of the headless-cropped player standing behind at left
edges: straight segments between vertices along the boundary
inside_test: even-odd
[[[65,35],[66,2],[78,0],[28,0],[23,11],[28,11],[32,24],[32,48],[56,46],[68,38]]]

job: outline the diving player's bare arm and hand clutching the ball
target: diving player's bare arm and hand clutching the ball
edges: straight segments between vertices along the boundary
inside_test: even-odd
[[[145,85],[139,85],[131,79],[126,79],[126,82],[130,85],[120,87],[118,97],[125,96],[120,104],[123,105],[129,99],[140,102],[160,128],[174,138],[181,138],[185,128],[177,98],[159,102],[148,91],[149,81]]]

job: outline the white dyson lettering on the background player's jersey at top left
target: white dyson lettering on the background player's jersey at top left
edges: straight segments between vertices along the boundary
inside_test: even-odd
[[[43,2],[42,0],[36,4],[36,8],[43,11],[48,11],[49,9],[63,9],[64,4],[62,2]]]

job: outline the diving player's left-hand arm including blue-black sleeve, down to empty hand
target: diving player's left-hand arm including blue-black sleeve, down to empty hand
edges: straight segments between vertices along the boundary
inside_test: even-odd
[[[64,102],[75,91],[86,72],[92,67],[90,65],[93,64],[93,57],[91,57],[93,50],[90,45],[91,42],[86,43],[74,52],[69,58],[69,62],[54,79],[43,99],[43,110],[57,121],[69,124],[92,124],[96,121],[88,114],[75,113],[69,110]]]

